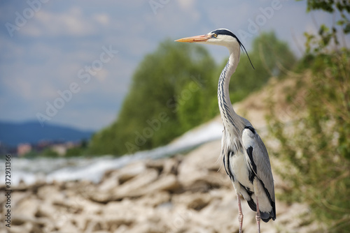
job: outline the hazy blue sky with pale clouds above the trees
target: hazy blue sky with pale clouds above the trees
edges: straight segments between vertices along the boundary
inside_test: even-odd
[[[301,57],[304,31],[335,17],[307,13],[306,1],[4,0],[0,121],[100,130],[118,117],[135,68],[162,40],[227,28],[250,50],[273,30]],[[228,57],[225,48],[207,49],[217,63]]]

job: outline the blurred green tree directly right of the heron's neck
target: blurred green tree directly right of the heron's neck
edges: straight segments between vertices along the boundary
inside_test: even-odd
[[[230,81],[232,102],[244,99],[252,91],[256,91],[266,84],[270,77],[281,77],[283,70],[290,70],[296,61],[288,45],[278,40],[274,32],[261,33],[255,38],[253,50],[248,54],[255,69],[251,67],[246,54],[241,52],[239,66]],[[223,66],[225,66],[224,63]],[[220,72],[221,70],[222,67]]]

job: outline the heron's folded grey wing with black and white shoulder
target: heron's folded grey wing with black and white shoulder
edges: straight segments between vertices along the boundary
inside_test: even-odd
[[[265,144],[251,126],[247,126],[242,131],[242,142],[246,150],[246,162],[258,179],[262,181],[269,197],[274,202],[274,178]]]

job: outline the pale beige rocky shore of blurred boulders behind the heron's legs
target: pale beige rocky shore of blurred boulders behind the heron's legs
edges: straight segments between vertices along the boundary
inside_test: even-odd
[[[236,195],[219,151],[216,141],[187,155],[139,161],[106,172],[100,183],[22,183],[12,193],[11,227],[0,232],[238,232]],[[279,202],[283,183],[275,180],[277,219],[262,223],[262,232],[316,230],[303,220],[307,206]],[[256,232],[255,212],[242,203],[244,232]]]

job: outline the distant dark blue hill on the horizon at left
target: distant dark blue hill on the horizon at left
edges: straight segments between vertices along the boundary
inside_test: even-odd
[[[55,142],[89,140],[92,133],[94,132],[50,123],[45,123],[45,126],[41,127],[38,121],[22,123],[0,121],[0,142],[8,146],[17,146],[25,142],[36,144],[42,140]]]

